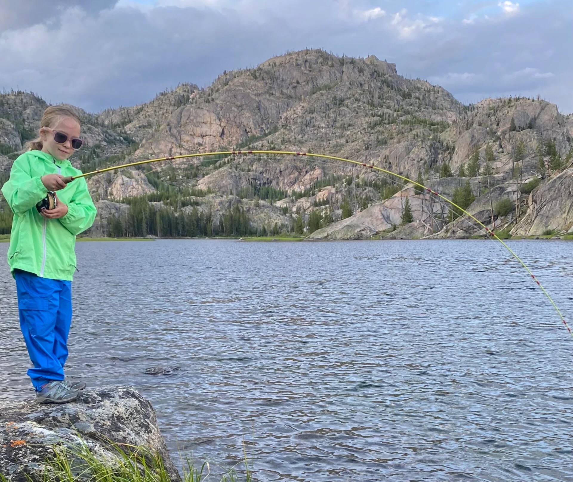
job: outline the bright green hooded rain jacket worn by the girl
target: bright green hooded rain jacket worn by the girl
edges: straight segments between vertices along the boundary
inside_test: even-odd
[[[10,179],[2,187],[14,213],[8,264],[15,269],[33,272],[42,278],[71,281],[76,270],[76,236],[92,226],[96,207],[85,179],[74,179],[57,191],[58,199],[68,205],[60,219],[45,219],[36,204],[48,189],[41,177],[46,174],[77,176],[81,171],[69,160],[58,161],[42,151],[28,151],[14,161]]]

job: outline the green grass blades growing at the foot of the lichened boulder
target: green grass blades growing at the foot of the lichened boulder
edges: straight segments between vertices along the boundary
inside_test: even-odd
[[[172,482],[171,475],[158,453],[144,447],[110,443],[107,454],[97,456],[88,443],[80,438],[78,445],[59,445],[46,460],[44,474],[39,482]],[[207,482],[210,476],[209,463],[198,468],[195,461],[182,457],[182,482]],[[253,482],[253,468],[243,444],[240,463],[234,465],[217,480],[219,482]],[[6,476],[0,474],[0,481]],[[32,480],[32,479],[30,479]]]

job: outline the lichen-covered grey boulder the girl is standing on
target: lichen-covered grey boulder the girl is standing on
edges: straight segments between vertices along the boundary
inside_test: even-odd
[[[172,463],[150,402],[130,386],[85,390],[64,405],[1,402],[0,474],[11,482],[44,480],[46,457],[58,445],[79,447],[85,440],[92,453],[109,457],[109,442],[145,447],[163,457],[172,480]],[[124,446],[123,449],[127,449]]]

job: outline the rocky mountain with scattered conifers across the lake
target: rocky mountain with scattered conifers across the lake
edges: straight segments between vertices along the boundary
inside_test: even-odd
[[[4,171],[45,106],[30,93],[0,94]],[[573,227],[572,116],[539,99],[462,105],[375,56],[303,50],[224,72],[206,89],[181,84],[139,106],[79,112],[87,147],[73,161],[84,172],[194,152],[316,152],[423,180],[492,229]],[[96,175],[89,186],[99,207],[92,235],[242,234],[249,223],[253,232],[313,239],[482,234],[411,184],[311,157],[196,157]],[[406,199],[412,219],[402,226]]]

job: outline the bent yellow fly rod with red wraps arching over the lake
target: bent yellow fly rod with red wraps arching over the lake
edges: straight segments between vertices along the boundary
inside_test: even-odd
[[[425,185],[418,183],[417,181],[414,181],[412,179],[409,179],[409,177],[403,176],[401,174],[398,174],[396,172],[392,172],[392,171],[388,171],[387,169],[383,169],[381,167],[375,166],[374,164],[367,164],[367,163],[363,163],[360,161],[354,161],[351,159],[344,159],[344,157],[336,157],[336,156],[329,156],[329,155],[325,155],[325,154],[315,154],[315,153],[311,153],[311,152],[291,152],[291,151],[219,151],[219,152],[202,152],[202,153],[194,153],[194,154],[183,154],[183,155],[179,155],[179,156],[167,156],[167,157],[158,157],[157,159],[148,159],[148,160],[144,160],[144,161],[136,161],[134,163],[129,163],[129,164],[121,164],[121,165],[116,165],[116,166],[112,166],[112,167],[107,167],[107,168],[103,168],[103,169],[96,169],[96,171],[92,171],[92,172],[87,172],[84,174],[80,174],[78,176],[70,176],[70,177],[65,177],[64,178],[64,182],[67,184],[71,181],[73,181],[74,179],[80,179],[81,177],[88,177],[88,176],[93,176],[96,174],[101,174],[103,172],[109,172],[109,171],[116,171],[117,169],[124,169],[127,167],[134,167],[134,166],[138,166],[138,165],[144,165],[144,164],[151,164],[151,163],[158,163],[161,161],[173,161],[176,159],[187,159],[187,158],[191,158],[191,157],[206,157],[206,156],[231,156],[231,155],[252,155],[252,154],[264,154],[264,155],[278,155],[278,156],[305,156],[305,157],[313,157],[316,159],[326,159],[326,160],[332,160],[332,161],[342,161],[344,163],[349,163],[349,164],[354,164],[354,165],[358,165],[360,167],[364,167],[366,169],[370,169],[370,171],[374,171],[374,172],[380,172],[386,175],[390,175],[393,177],[397,177],[398,179],[401,179],[402,181],[405,181],[405,183],[410,183],[410,184],[414,184],[415,186],[417,186],[418,188],[423,189],[423,191],[426,191],[427,193],[429,193],[431,196],[435,196],[437,199],[441,200],[442,202],[448,203],[451,207],[455,208],[456,210],[458,210],[459,212],[462,212],[463,214],[465,214],[466,216],[468,216],[470,219],[473,220],[474,223],[477,224],[477,226],[480,226],[481,228],[484,229],[484,231],[486,232],[486,235],[489,236],[489,238],[493,239],[493,240],[497,240],[497,242],[501,243],[503,245],[503,247],[509,251],[509,253],[512,255],[513,258],[515,258],[517,260],[517,262],[519,262],[521,264],[521,266],[525,269],[525,271],[528,272],[529,276],[531,276],[533,282],[536,283],[537,286],[539,286],[539,288],[541,289],[541,291],[543,291],[543,293],[545,294],[545,296],[547,297],[547,299],[551,302],[551,305],[554,307],[555,311],[557,312],[557,314],[559,315],[559,318],[561,319],[561,321],[563,322],[563,325],[566,327],[567,331],[569,332],[569,334],[571,335],[571,337],[573,337],[573,331],[571,331],[571,328],[569,327],[569,325],[567,324],[566,319],[563,317],[563,314],[561,313],[561,311],[559,310],[559,308],[557,307],[557,305],[555,304],[555,302],[553,301],[553,299],[551,298],[551,295],[547,292],[547,290],[545,290],[545,288],[543,287],[543,285],[541,285],[541,282],[539,281],[539,279],[536,278],[536,276],[533,274],[533,272],[529,269],[529,267],[527,266],[527,264],[525,264],[523,262],[523,260],[517,256],[517,254],[515,253],[515,251],[512,250],[511,247],[509,247],[507,245],[507,243],[505,243],[503,241],[503,239],[499,238],[499,236],[497,236],[497,234],[493,231],[490,230],[487,226],[485,226],[484,223],[482,223],[479,219],[477,219],[475,216],[473,216],[472,214],[470,214],[468,211],[464,210],[464,208],[461,208],[460,206],[458,206],[456,203],[454,203],[452,200],[448,199],[446,196],[440,194],[437,191],[434,191],[433,189],[427,188]]]

